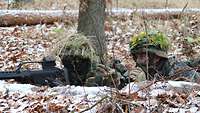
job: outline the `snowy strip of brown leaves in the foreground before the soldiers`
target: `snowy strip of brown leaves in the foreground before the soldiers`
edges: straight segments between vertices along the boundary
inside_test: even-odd
[[[50,88],[0,81],[0,111],[78,113],[92,107],[102,98],[108,97],[84,113],[95,113],[102,108],[102,105],[112,101],[120,106],[126,105],[124,102],[129,101],[130,104],[136,105],[131,108],[132,111],[142,107],[145,112],[148,112],[158,109],[160,103],[164,112],[193,113],[200,108],[199,89],[198,84],[183,81],[130,83],[119,93],[109,87],[67,85]]]

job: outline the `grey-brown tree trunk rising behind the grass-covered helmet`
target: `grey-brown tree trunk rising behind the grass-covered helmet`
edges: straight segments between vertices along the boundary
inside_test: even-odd
[[[105,0],[80,0],[78,32],[87,36],[100,57],[106,61],[106,38],[104,33]]]

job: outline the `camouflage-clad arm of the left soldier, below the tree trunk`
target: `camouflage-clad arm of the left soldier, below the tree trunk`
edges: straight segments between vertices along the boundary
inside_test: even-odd
[[[97,64],[88,73],[86,86],[110,86],[123,88],[128,83],[128,70],[120,60],[113,60],[109,66]]]

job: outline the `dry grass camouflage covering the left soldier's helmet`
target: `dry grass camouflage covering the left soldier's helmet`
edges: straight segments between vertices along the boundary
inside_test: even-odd
[[[73,34],[65,36],[58,42],[57,47],[54,48],[54,53],[61,58],[64,56],[81,56],[89,58],[91,61],[98,61],[92,43],[82,34]]]

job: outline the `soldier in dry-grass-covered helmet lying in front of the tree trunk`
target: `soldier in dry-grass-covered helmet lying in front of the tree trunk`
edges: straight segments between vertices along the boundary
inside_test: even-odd
[[[99,57],[95,54],[92,44],[82,34],[74,34],[64,37],[58,44],[55,52],[68,70],[71,85],[86,86],[110,86],[121,87],[121,73],[111,66],[99,63]],[[114,62],[113,66],[119,67],[120,62]]]

